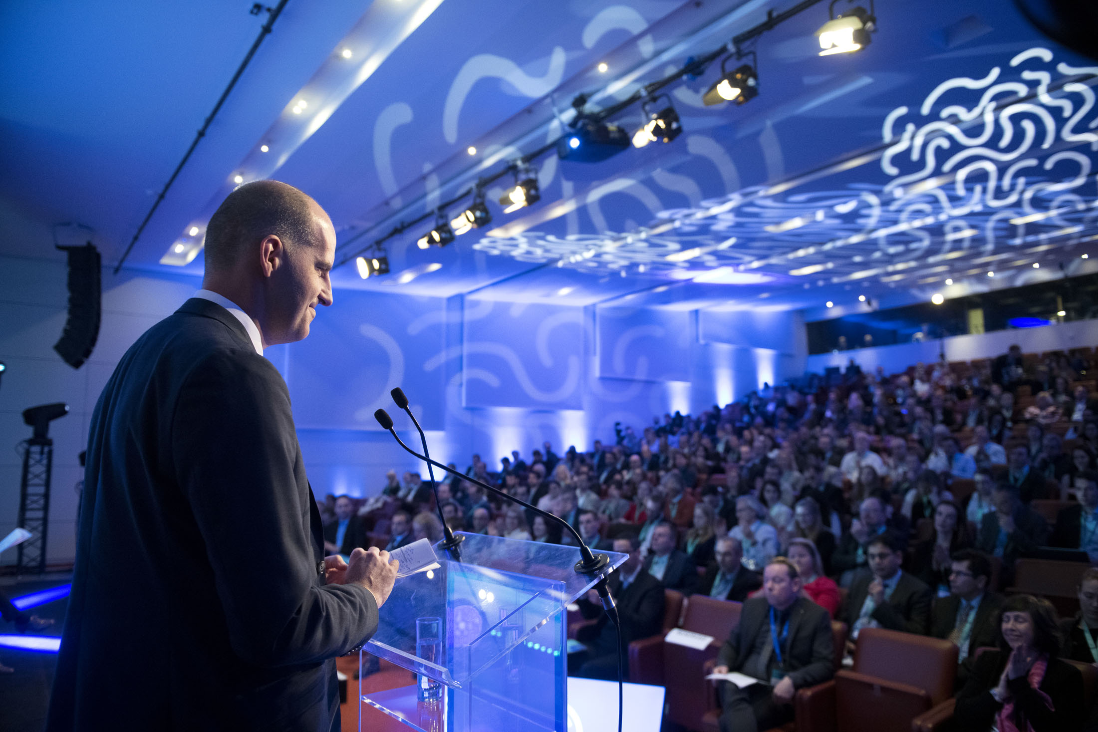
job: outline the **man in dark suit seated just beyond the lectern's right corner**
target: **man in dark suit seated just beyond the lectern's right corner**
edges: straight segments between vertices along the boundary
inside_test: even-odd
[[[628,647],[634,641],[660,632],[663,624],[663,585],[641,566],[639,539],[615,539],[614,551],[629,555],[607,579],[621,621],[621,645]],[[598,593],[587,590],[586,597],[581,597],[576,605],[584,618],[598,618],[598,622],[581,628],[576,634],[576,640],[587,647],[586,651],[569,654],[569,676],[617,679],[617,631],[603,610]]]

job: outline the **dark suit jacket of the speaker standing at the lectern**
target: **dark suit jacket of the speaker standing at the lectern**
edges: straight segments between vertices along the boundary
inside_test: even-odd
[[[329,729],[335,656],[378,609],[326,586],[323,555],[285,382],[225,308],[187,301],[92,414],[46,729]]]

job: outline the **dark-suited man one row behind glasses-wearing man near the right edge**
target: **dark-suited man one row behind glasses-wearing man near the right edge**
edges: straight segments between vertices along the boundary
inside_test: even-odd
[[[1018,488],[1009,483],[991,489],[991,503],[995,510],[981,519],[976,549],[1002,560],[999,586],[1009,587],[1018,558],[1047,543],[1049,522],[1024,505]]]

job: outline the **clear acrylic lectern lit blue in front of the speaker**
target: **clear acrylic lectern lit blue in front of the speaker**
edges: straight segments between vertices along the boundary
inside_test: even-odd
[[[459,532],[461,561],[402,577],[363,647],[416,674],[416,683],[361,695],[423,732],[562,732],[567,729],[567,607],[626,560],[575,572],[574,547]],[[359,714],[359,729],[367,727]]]

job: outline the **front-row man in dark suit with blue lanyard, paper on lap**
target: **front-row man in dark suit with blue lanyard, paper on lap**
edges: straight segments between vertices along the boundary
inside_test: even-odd
[[[834,674],[827,610],[800,597],[800,577],[777,556],[763,570],[763,597],[743,603],[740,622],[717,653],[714,673],[739,672],[765,682],[739,688],[718,682],[720,732],[769,730],[793,720],[793,695]]]

